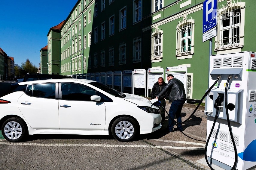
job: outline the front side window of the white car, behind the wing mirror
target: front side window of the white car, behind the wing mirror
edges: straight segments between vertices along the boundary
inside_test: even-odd
[[[72,83],[61,83],[61,92],[63,100],[91,101],[91,96],[96,95],[96,90]]]

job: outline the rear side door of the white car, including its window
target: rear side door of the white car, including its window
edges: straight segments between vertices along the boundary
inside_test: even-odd
[[[56,84],[28,85],[26,93],[18,99],[18,107],[33,129],[59,129],[59,100]]]

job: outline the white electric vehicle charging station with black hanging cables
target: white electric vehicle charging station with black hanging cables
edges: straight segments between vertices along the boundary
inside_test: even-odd
[[[218,114],[209,137],[206,154],[209,163],[223,169],[230,169],[236,161],[235,169],[238,170],[256,167],[255,55],[254,52],[245,51],[210,57],[209,86],[214,83],[217,76],[221,76],[221,79],[206,96],[207,139],[214,125],[215,115]],[[231,79],[226,84],[228,78]],[[223,99],[225,94],[226,104]],[[226,106],[232,134],[227,124]],[[233,142],[238,154],[237,160]]]

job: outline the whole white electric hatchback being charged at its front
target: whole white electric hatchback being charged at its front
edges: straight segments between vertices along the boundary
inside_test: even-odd
[[[125,142],[162,126],[159,109],[151,101],[96,81],[28,81],[17,89],[0,99],[2,134],[10,142],[28,134],[112,134]]]

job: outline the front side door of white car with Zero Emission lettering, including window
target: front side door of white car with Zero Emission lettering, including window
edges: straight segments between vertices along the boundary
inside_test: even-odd
[[[105,103],[91,101],[96,90],[83,84],[61,83],[60,130],[104,130]]]

